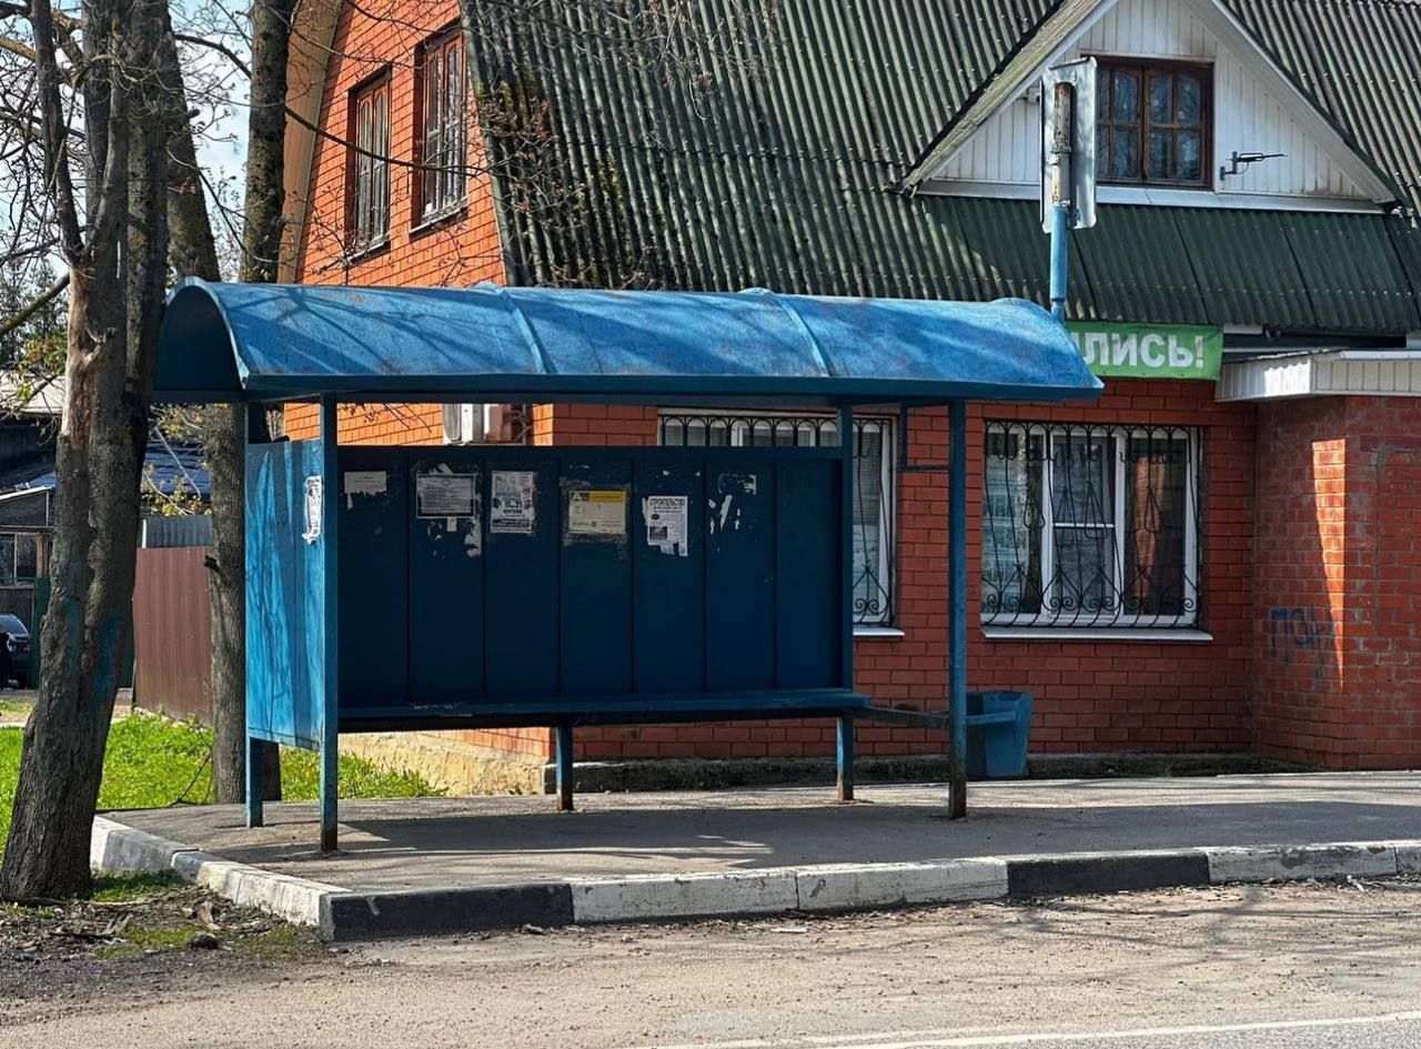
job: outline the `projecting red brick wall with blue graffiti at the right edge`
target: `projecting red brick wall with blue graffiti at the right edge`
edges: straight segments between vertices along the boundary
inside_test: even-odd
[[[1421,759],[1421,402],[1259,414],[1255,745],[1327,768]]]

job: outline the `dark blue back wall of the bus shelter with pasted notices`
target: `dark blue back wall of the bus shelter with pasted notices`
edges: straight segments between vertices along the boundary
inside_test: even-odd
[[[341,718],[851,688],[833,449],[342,448]]]

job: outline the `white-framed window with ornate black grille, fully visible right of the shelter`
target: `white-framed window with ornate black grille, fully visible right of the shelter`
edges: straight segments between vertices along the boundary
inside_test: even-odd
[[[982,621],[1194,627],[1199,432],[988,422]]]

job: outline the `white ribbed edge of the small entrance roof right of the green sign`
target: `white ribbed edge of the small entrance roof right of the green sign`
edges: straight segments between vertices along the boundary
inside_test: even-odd
[[[1327,350],[1228,361],[1216,401],[1421,397],[1421,350]]]

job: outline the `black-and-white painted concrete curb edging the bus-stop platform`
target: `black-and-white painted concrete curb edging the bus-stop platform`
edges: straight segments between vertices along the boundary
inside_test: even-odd
[[[1229,881],[1421,874],[1421,840],[973,857],[776,867],[509,886],[357,893],[242,863],[97,817],[101,871],[172,870],[244,907],[315,925],[325,940],[496,928],[855,911],[969,900],[1141,891]]]

